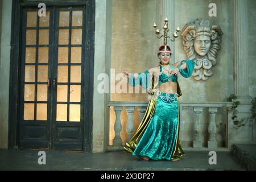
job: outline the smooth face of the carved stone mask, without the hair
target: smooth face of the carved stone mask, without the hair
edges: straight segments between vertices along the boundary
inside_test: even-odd
[[[210,49],[210,45],[211,45],[210,36],[207,36],[207,35],[196,36],[194,40],[195,51],[200,56],[207,55]]]

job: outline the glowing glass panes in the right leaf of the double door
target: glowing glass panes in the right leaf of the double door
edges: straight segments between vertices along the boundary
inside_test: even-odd
[[[82,10],[60,10],[57,46],[57,122],[80,122]],[[67,117],[64,117],[64,113]]]

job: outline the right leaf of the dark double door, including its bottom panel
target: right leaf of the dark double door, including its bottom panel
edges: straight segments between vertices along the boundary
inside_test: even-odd
[[[53,101],[53,147],[82,148],[82,89],[84,60],[84,9],[56,11],[55,96]]]

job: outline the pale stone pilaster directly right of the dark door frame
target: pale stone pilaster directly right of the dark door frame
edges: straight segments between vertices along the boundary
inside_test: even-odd
[[[98,92],[98,76],[110,74],[112,1],[96,0],[95,11],[92,151],[99,153],[106,151],[109,139],[110,94]]]

